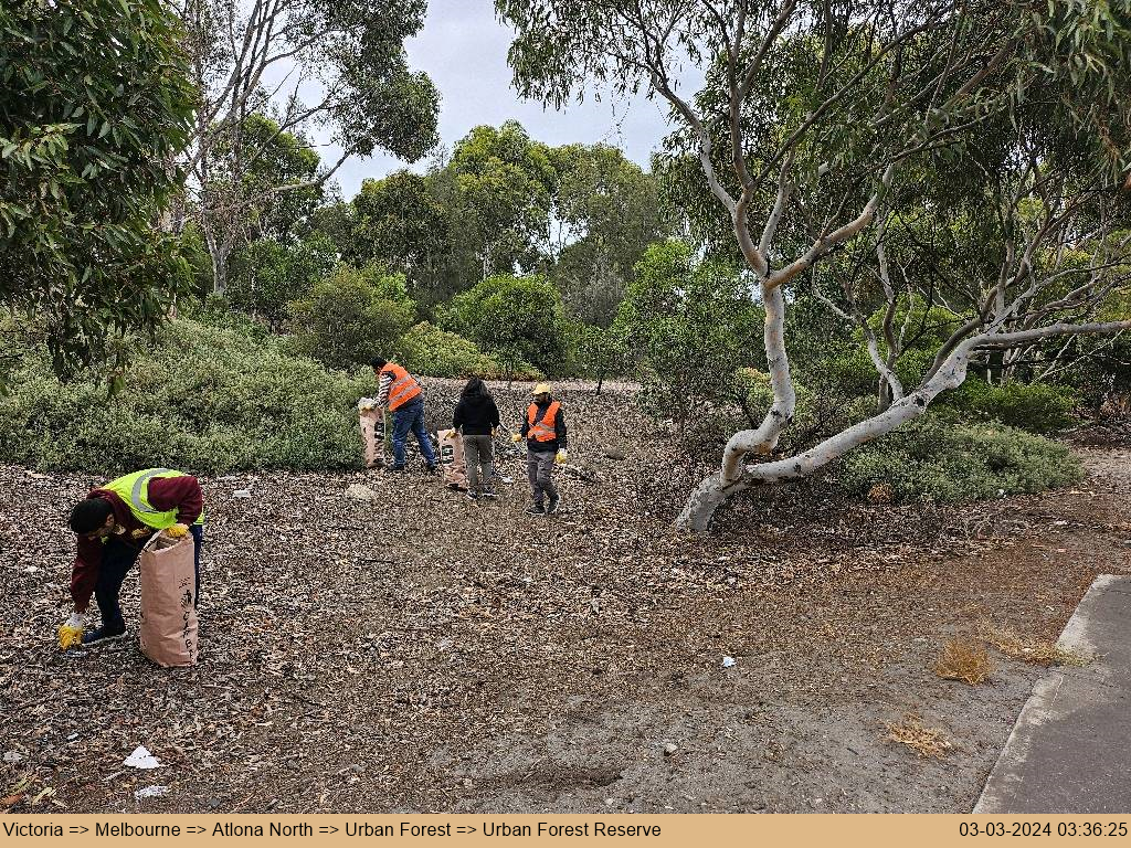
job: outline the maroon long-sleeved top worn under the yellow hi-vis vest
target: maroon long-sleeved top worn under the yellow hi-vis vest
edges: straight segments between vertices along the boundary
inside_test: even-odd
[[[154,534],[154,529],[138,521],[130,511],[129,504],[113,492],[95,488],[87,497],[102,497],[110,501],[110,505],[114,510],[114,529],[116,531],[118,528],[123,528],[121,534],[114,533],[113,536],[127,545],[140,551]],[[205,508],[200,484],[196,477],[189,475],[154,477],[149,481],[148,497],[150,505],[156,510],[166,512],[175,509],[176,520],[182,525],[191,525],[200,518]],[[78,556],[71,572],[71,598],[75,600],[75,612],[85,613],[90,605],[90,595],[94,594],[94,587],[98,582],[102,554],[105,547],[106,543],[102,539],[78,537]]]

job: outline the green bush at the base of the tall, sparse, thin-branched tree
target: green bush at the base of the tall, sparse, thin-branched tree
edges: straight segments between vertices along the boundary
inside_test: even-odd
[[[287,318],[287,304],[334,269],[334,252],[325,239],[253,241],[232,257],[225,295],[233,308],[278,328]]]

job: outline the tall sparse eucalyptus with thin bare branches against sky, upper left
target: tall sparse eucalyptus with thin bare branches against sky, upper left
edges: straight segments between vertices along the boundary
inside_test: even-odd
[[[176,0],[200,106],[180,164],[223,292],[249,211],[325,184],[352,156],[388,150],[415,162],[437,140],[439,94],[408,68],[407,37],[425,0]],[[249,131],[266,114],[274,133]],[[261,129],[257,127],[256,129]],[[340,149],[314,174],[261,185],[247,174],[275,136],[312,135]]]

